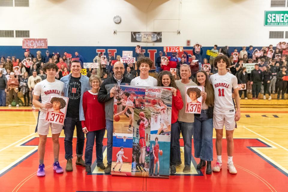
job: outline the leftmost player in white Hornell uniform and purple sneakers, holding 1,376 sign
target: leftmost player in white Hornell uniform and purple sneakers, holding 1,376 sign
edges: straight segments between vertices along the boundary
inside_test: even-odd
[[[63,169],[59,164],[59,142],[58,138],[62,131],[63,125],[45,122],[46,110],[52,108],[53,105],[49,101],[50,95],[64,95],[65,85],[63,82],[55,79],[56,71],[58,67],[55,63],[46,63],[43,70],[47,74],[47,78],[35,85],[33,105],[40,108],[39,120],[38,120],[38,134],[39,134],[39,145],[38,145],[38,156],[39,156],[39,167],[37,176],[45,176],[44,170],[44,154],[45,144],[47,135],[49,133],[49,127],[51,128],[52,141],[53,141],[53,153],[54,153],[54,164],[53,169],[56,173],[63,173]],[[41,103],[39,97],[41,96]]]

